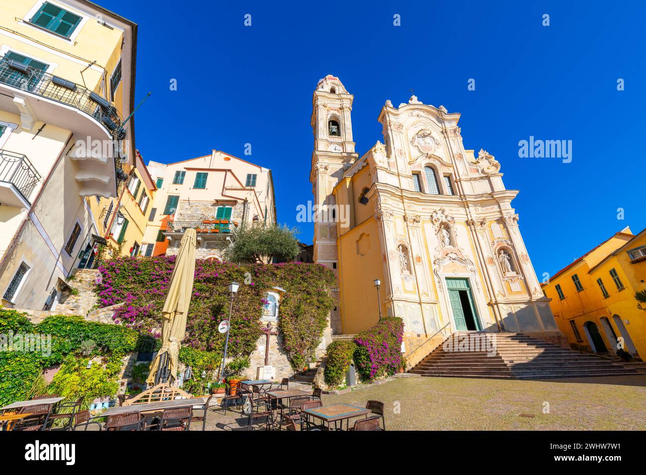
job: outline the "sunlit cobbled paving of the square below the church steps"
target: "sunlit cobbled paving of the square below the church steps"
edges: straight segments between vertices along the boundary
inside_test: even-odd
[[[646,429],[643,374],[541,381],[408,377],[322,399],[357,406],[383,401],[388,430]],[[243,430],[247,418],[235,411],[224,417],[219,406],[209,410],[207,430]]]

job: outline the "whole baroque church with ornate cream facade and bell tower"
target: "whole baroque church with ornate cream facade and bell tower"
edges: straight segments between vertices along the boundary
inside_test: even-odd
[[[401,317],[410,364],[468,330],[563,343],[511,204],[518,192],[494,156],[464,149],[460,114],[415,96],[386,101],[384,142],[359,156],[352,102],[331,75],[313,94],[314,260],[339,282],[331,333]]]

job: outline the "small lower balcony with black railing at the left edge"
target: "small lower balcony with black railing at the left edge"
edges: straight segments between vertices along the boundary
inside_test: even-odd
[[[28,207],[40,180],[41,175],[25,155],[0,149],[0,204]]]

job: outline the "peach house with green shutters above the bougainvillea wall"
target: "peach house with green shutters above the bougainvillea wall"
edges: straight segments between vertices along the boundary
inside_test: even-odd
[[[174,164],[149,162],[158,189],[141,255],[172,255],[184,231],[198,231],[196,257],[220,259],[231,232],[244,224],[276,223],[271,170],[214,150]]]

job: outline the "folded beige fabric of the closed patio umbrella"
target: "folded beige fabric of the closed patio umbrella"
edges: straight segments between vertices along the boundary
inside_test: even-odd
[[[151,363],[151,372],[147,383],[154,384],[155,375],[160,369],[161,357],[169,354],[169,368],[172,379],[177,378],[177,359],[180,353],[180,343],[186,332],[186,315],[193,293],[195,276],[195,229],[187,229],[180,243],[180,251],[175,260],[171,282],[168,286],[166,301],[161,309],[161,348]]]

